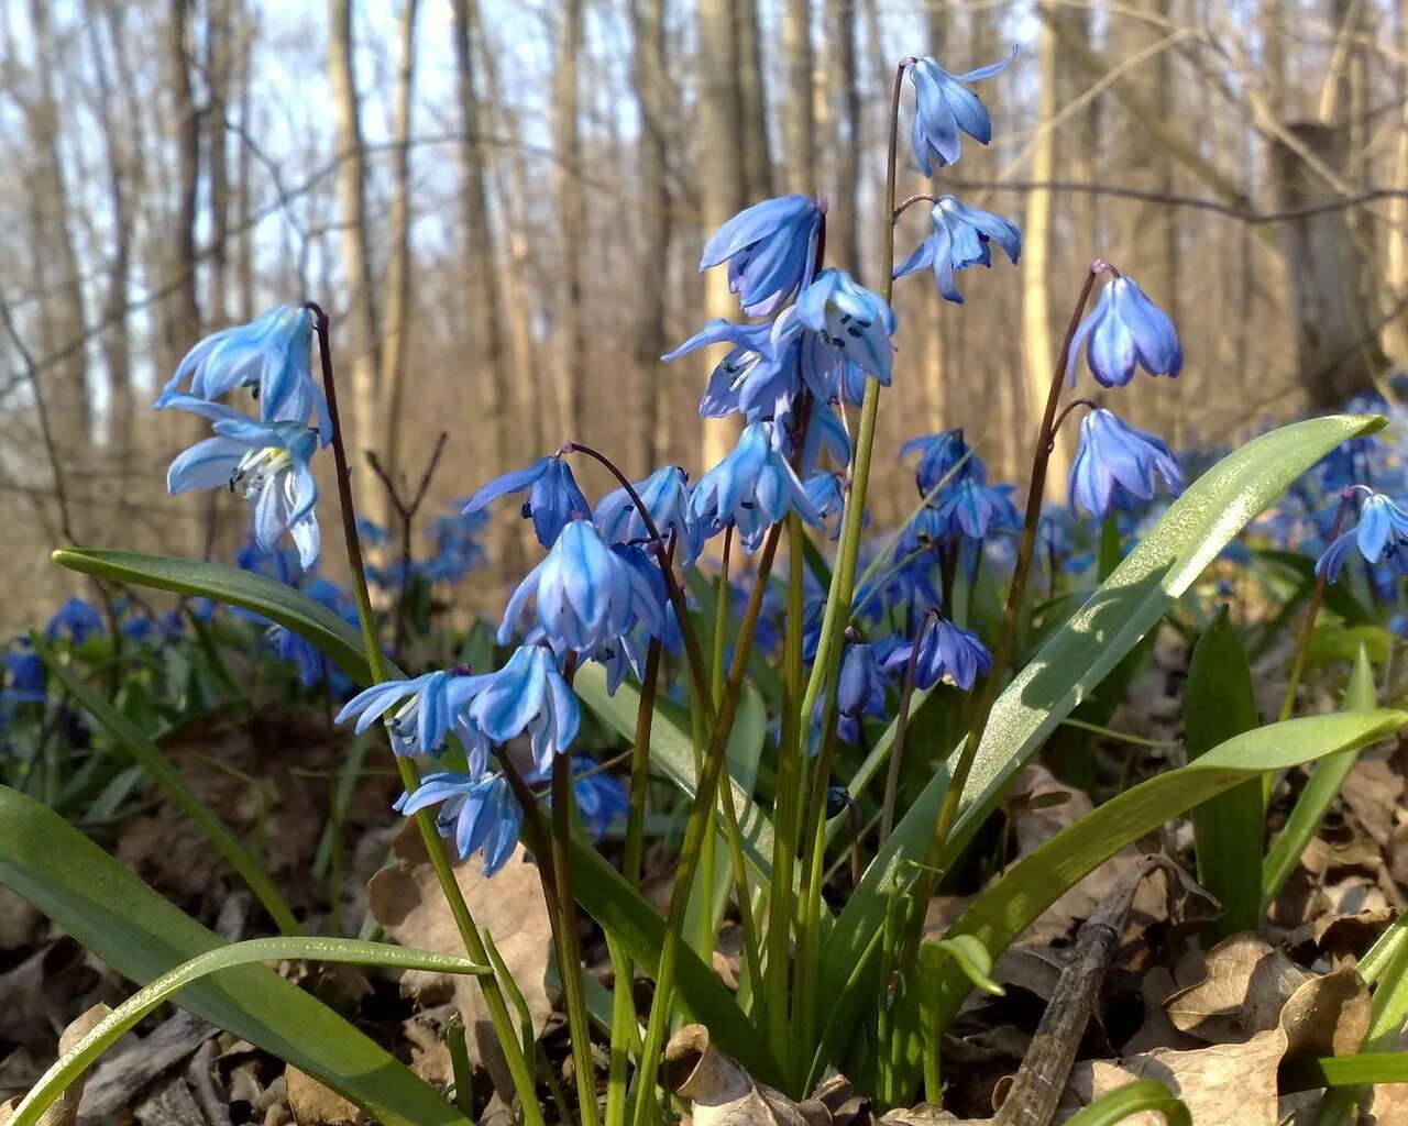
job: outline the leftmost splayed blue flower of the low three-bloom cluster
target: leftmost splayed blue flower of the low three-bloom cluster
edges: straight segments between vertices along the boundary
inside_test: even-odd
[[[456,669],[410,680],[387,680],[352,697],[338,712],[337,722],[345,723],[356,716],[353,730],[360,735],[400,704],[386,721],[391,750],[397,754],[441,754],[445,738],[453,732],[469,756],[470,768],[482,771],[489,759],[489,740],[465,711],[482,680]]]

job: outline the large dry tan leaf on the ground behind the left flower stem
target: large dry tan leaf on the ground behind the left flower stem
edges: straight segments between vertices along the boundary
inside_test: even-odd
[[[439,881],[431,867],[415,826],[407,823],[396,837],[397,860],[382,868],[367,884],[372,915],[398,943],[422,950],[463,954],[465,944],[451,916]],[[508,863],[486,878],[479,863],[456,863],[455,881],[469,905],[474,923],[487,930],[508,971],[522,991],[535,1035],[542,1035],[552,1012],[548,1001],[548,956],[552,929],[542,898],[538,868],[524,860],[518,846]],[[462,974],[407,973],[401,989],[422,1004],[453,998],[465,1022],[469,1056],[489,1068],[501,1091],[511,1091],[513,1081],[498,1047],[498,1037],[489,1020],[477,978]]]

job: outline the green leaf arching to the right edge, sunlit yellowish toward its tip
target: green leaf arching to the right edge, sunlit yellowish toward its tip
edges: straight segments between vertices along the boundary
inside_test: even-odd
[[[957,918],[945,937],[973,935],[1000,957],[1052,904],[1131,842],[1208,798],[1271,770],[1367,746],[1408,725],[1408,712],[1314,715],[1238,735],[1178,770],[1126,790],[1010,868]],[[946,1029],[967,995],[967,977],[939,966],[921,1004],[929,1027]]]

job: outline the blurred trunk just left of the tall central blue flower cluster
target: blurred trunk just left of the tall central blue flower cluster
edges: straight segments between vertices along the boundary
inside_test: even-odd
[[[641,110],[641,246],[636,266],[641,287],[635,359],[645,379],[645,403],[641,411],[639,450],[642,464],[653,469],[660,462],[662,450],[669,449],[672,421],[669,411],[662,410],[667,396],[660,393],[662,380],[670,377],[660,356],[669,349],[665,315],[673,229],[666,149],[672,91],[665,70],[665,0],[632,0],[631,34],[635,97]]]

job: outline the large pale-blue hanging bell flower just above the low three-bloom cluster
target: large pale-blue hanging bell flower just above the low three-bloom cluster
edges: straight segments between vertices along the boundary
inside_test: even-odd
[[[634,550],[608,546],[591,521],[570,521],[508,600],[498,643],[513,636],[529,600],[536,605],[534,625],[577,652],[597,649],[636,624],[659,629],[663,587],[646,573],[653,566],[642,569]]]

